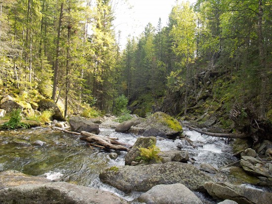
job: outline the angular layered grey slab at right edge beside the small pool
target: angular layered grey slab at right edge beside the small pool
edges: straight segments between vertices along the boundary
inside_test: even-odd
[[[272,178],[269,167],[264,162],[257,160],[254,157],[244,156],[240,161],[243,169],[253,175]]]

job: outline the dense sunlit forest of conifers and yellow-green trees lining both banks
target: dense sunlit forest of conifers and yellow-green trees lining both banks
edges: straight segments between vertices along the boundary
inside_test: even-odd
[[[62,100],[65,118],[125,101],[123,114],[271,130],[271,0],[177,3],[124,50],[114,2],[1,0],[0,95]]]

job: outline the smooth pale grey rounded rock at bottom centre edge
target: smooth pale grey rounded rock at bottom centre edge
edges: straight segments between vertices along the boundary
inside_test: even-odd
[[[202,204],[199,198],[181,183],[154,186],[137,200],[146,204]]]

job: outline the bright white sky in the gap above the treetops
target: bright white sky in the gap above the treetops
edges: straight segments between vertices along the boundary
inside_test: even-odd
[[[125,48],[129,35],[138,37],[150,22],[154,27],[161,18],[166,26],[168,16],[177,0],[115,0],[115,32],[121,31],[121,49]],[[182,0],[179,0],[181,2]],[[185,0],[184,0],[185,1]],[[189,0],[191,3],[195,0]]]

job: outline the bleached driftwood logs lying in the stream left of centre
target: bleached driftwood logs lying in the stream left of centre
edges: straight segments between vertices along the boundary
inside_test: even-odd
[[[118,151],[129,151],[132,147],[131,145],[122,143],[117,141],[118,137],[108,137],[108,136],[102,136],[102,135],[96,135],[92,134],[90,132],[81,131],[79,132],[73,132],[66,130],[61,127],[52,127],[53,129],[61,130],[63,132],[81,135],[80,139],[85,140],[87,142],[90,142],[91,146],[99,147],[101,149],[112,149],[112,150],[118,150]],[[93,144],[95,143],[95,144]]]

